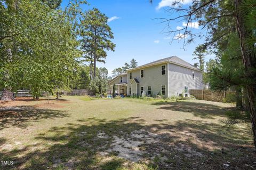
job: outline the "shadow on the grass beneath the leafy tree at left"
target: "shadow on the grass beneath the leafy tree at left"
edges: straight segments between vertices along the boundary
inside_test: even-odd
[[[69,116],[67,111],[39,109],[29,106],[3,107],[0,108],[0,129],[10,126],[25,128],[30,122],[67,116]]]

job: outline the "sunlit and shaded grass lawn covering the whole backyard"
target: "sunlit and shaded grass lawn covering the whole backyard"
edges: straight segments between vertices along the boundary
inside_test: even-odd
[[[1,169],[255,169],[230,104],[63,96],[0,102]]]

